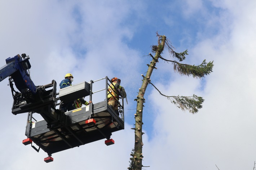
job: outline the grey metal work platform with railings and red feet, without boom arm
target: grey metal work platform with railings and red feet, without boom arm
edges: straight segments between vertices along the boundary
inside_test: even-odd
[[[50,114],[57,114],[56,122],[49,124],[47,120],[33,121],[33,112],[28,113],[26,133],[27,140],[33,141],[39,148],[31,146],[39,151],[41,148],[48,153],[50,157],[53,153],[67,150],[74,147],[106,139],[105,144],[114,144],[114,140],[111,139],[112,132],[124,129],[124,107],[123,98],[119,102],[119,111],[122,113],[121,117],[107,105],[107,91],[110,86],[109,78],[105,77],[98,81],[104,81],[105,87],[100,90],[105,93],[105,98],[101,102],[91,103],[88,106],[67,111],[60,114],[54,112],[52,109]],[[81,88],[81,84],[70,86],[61,89],[59,92],[59,98],[63,100],[74,100],[80,96],[89,94],[90,100],[96,92],[92,92],[93,83],[97,81],[91,81],[90,83],[84,82],[84,88]],[[83,87],[83,86],[82,86]],[[91,89],[88,91],[88,89]],[[84,91],[84,92],[83,92]],[[74,95],[73,93],[78,93]],[[58,94],[58,93],[57,93]],[[45,114],[44,114],[45,116]],[[27,141],[26,140],[26,141]],[[24,142],[24,144],[30,144],[30,142]]]

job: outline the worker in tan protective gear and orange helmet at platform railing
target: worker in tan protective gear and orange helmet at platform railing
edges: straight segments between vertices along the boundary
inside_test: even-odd
[[[119,116],[118,112],[118,100],[120,95],[120,90],[123,89],[122,86],[120,86],[121,80],[114,77],[111,79],[111,84],[109,89],[107,90],[107,104],[114,109],[116,114]]]

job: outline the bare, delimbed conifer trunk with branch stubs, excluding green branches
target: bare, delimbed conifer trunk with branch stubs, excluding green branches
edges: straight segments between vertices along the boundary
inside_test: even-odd
[[[145,102],[144,94],[147,88],[147,85],[150,82],[150,77],[155,68],[156,62],[158,62],[158,58],[162,51],[164,50],[165,46],[165,36],[159,36],[158,39],[158,46],[155,46],[153,49],[155,51],[155,56],[153,60],[148,64],[149,69],[147,70],[146,76],[143,76],[142,86],[139,89],[139,93],[137,96],[137,111],[135,114],[135,142],[134,142],[134,154],[133,154],[133,161],[134,161],[134,170],[141,170],[142,169],[142,112],[143,112],[143,103]],[[156,69],[156,68],[155,68]]]

